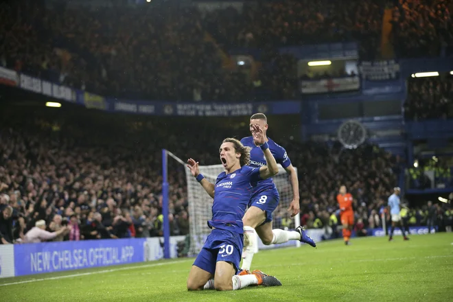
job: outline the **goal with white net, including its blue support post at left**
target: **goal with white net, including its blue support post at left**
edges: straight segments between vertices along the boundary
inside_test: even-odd
[[[190,246],[189,256],[197,255],[211,229],[207,226],[207,220],[212,218],[212,202],[213,199],[206,194],[205,189],[196,181],[191,175],[189,168],[186,167],[186,163],[175,156],[168,150],[162,150],[162,165],[163,165],[163,186],[162,186],[162,214],[163,214],[163,236],[164,236],[164,257],[170,257],[170,223],[168,222],[168,200],[169,200],[169,185],[167,182],[167,156],[172,157],[178,163],[181,163],[185,169],[185,176],[187,181],[187,203],[189,212],[189,235],[190,235]],[[272,228],[274,229],[296,229],[301,225],[300,214],[290,218],[288,209],[290,202],[292,201],[292,187],[288,174],[285,169],[279,164],[279,173],[272,177],[275,186],[279,191],[280,202],[277,209],[272,214]],[[200,173],[207,178],[211,183],[216,183],[218,174],[224,172],[223,165],[200,165]],[[297,168],[294,167],[294,170]],[[181,171],[182,173],[182,171]],[[262,243],[261,240],[257,239],[257,242]],[[270,246],[261,245],[262,248],[276,248],[283,246],[301,246],[299,240],[291,240],[286,244],[271,244]],[[257,252],[257,250],[255,250]]]

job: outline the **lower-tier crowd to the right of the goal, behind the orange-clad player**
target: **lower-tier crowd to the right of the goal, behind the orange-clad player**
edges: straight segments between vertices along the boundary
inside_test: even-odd
[[[382,227],[382,216],[386,218],[386,225],[391,225],[388,197],[393,194],[393,187],[404,169],[402,158],[370,144],[338,152],[338,143],[332,147],[314,142],[285,143],[283,146],[292,163],[298,167],[301,225],[308,229],[325,229],[325,237],[339,237],[336,196],[340,185],[346,185],[353,196],[356,235],[366,236],[367,229]],[[289,202],[281,200],[275,220],[277,225],[292,228],[294,220],[286,211]],[[408,200],[403,198],[401,215],[408,227],[426,226],[430,221],[434,221],[439,230],[453,227],[453,209],[448,204],[425,203],[409,208]]]

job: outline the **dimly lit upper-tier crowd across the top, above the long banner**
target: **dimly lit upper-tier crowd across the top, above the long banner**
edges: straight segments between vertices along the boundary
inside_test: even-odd
[[[425,2],[430,4],[421,5]],[[170,3],[98,9],[10,1],[0,5],[0,65],[130,99],[295,99],[296,59],[277,54],[279,45],[360,40],[361,59],[373,60],[379,51],[383,11],[393,1],[349,3],[246,2],[241,11],[203,14],[195,6]],[[399,54],[438,54],[441,47],[432,38],[452,45],[448,1],[395,3],[393,40]],[[222,68],[231,47],[263,50],[255,78]]]

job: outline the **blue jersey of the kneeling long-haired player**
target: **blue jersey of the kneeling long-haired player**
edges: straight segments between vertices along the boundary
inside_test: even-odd
[[[214,188],[212,220],[208,221],[208,226],[244,233],[242,217],[253,192],[252,183],[260,179],[259,167],[244,166],[230,174],[220,173]]]

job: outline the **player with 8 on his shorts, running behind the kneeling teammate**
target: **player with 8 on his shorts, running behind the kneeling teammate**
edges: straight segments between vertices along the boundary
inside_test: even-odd
[[[299,213],[299,183],[297,181],[297,173],[292,167],[291,161],[283,147],[277,145],[275,141],[266,136],[268,130],[268,119],[263,113],[256,113],[250,118],[250,131],[255,136],[255,126],[259,126],[264,132],[265,140],[269,145],[270,152],[275,157],[277,163],[285,168],[290,175],[292,185],[293,200],[288,208],[291,211],[291,217]],[[250,147],[250,166],[262,167],[268,163],[262,150],[257,146],[253,137],[244,137],[241,143],[246,147]],[[245,213],[242,221],[244,222],[244,259],[242,262],[242,272],[240,275],[250,273],[255,246],[257,245],[255,231],[261,238],[262,242],[268,244],[281,244],[289,240],[300,240],[316,247],[316,244],[310,238],[302,227],[297,227],[296,231],[284,231],[281,229],[272,229],[272,212],[279,205],[279,192],[275,187],[272,178],[259,181],[253,186],[253,194],[250,202],[248,202],[248,210]]]

